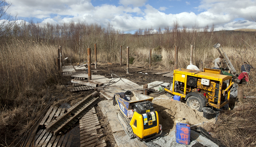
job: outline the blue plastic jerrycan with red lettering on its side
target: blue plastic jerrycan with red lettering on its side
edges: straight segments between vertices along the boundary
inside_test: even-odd
[[[178,122],[176,124],[176,142],[179,144],[190,144],[190,125]]]

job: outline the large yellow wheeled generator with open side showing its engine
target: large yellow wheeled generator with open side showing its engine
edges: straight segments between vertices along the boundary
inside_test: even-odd
[[[220,74],[220,70],[176,69],[172,84],[164,90],[180,96],[192,109],[202,112],[204,106],[220,109],[229,104],[232,85],[232,77]]]

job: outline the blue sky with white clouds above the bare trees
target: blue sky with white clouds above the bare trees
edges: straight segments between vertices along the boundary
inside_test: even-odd
[[[174,22],[192,28],[215,30],[256,29],[256,0],[9,0],[7,10],[24,21],[39,23],[86,22],[134,32],[172,27]]]

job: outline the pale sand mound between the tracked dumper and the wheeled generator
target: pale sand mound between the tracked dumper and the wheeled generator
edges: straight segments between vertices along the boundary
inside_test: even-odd
[[[214,118],[207,120],[203,117],[203,112],[198,112],[181,101],[170,100],[166,95],[156,97],[153,104],[153,108],[159,113],[159,121],[163,125],[164,132],[175,129],[174,121],[176,118],[186,118],[190,125],[215,121]]]

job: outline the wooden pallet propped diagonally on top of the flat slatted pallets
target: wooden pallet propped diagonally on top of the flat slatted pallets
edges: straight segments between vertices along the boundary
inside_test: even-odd
[[[84,114],[86,114],[90,109],[93,108],[94,105],[97,104],[98,98],[99,97],[94,98],[92,97],[92,94],[90,94],[82,101],[69,108],[68,113],[62,114],[61,116],[57,117],[56,120],[46,125],[46,130],[52,130],[54,135],[60,132],[66,133],[74,124],[76,124],[80,117],[84,116]]]

